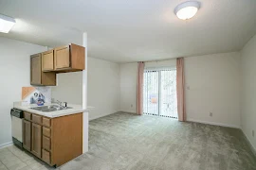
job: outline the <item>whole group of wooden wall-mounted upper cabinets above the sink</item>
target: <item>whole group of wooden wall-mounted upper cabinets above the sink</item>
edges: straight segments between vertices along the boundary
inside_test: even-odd
[[[30,56],[30,84],[56,86],[56,74],[85,69],[85,48],[70,43]]]

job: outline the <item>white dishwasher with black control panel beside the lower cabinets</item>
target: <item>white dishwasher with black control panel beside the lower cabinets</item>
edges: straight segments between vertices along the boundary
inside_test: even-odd
[[[11,134],[12,142],[23,147],[23,110],[11,109]]]

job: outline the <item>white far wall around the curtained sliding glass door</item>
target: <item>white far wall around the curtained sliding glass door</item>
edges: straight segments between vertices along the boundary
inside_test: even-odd
[[[175,59],[145,64],[166,66],[175,66]],[[240,127],[240,53],[185,58],[185,74],[189,120]],[[120,110],[136,112],[136,105],[137,63],[120,64]]]

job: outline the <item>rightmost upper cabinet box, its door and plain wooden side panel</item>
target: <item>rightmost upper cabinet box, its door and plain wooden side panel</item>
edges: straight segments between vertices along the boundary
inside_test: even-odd
[[[71,43],[54,48],[54,70],[56,72],[75,72],[85,69],[85,48]]]

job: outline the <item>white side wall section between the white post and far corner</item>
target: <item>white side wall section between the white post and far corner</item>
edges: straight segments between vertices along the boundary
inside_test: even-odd
[[[119,64],[88,58],[89,120],[119,111]]]

